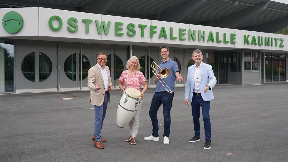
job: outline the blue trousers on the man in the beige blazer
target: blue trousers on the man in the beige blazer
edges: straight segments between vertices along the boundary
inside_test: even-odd
[[[103,121],[106,116],[106,110],[107,110],[107,104],[108,104],[108,94],[105,94],[104,96],[104,102],[101,106],[94,105],[95,109],[95,120],[94,120],[94,136],[95,141],[101,141],[101,130],[103,126]]]

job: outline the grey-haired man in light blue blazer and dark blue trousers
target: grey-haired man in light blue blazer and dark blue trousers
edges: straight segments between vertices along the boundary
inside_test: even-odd
[[[204,149],[211,148],[211,123],[210,123],[210,100],[214,99],[212,89],[216,84],[212,66],[202,62],[201,50],[195,49],[192,53],[195,64],[188,68],[187,81],[185,87],[185,104],[189,106],[189,97],[192,106],[192,116],[195,136],[189,140],[194,143],[200,141],[200,106],[205,130]]]

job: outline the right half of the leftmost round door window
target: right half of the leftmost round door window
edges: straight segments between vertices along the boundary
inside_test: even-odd
[[[39,52],[39,82],[45,81],[52,73],[52,62],[50,58]]]

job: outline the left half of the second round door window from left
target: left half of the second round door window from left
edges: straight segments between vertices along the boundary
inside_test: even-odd
[[[66,58],[64,73],[70,80],[76,81],[76,54],[71,54]]]

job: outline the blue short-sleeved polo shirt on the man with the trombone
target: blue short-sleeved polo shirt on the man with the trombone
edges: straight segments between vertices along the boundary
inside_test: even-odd
[[[171,91],[174,92],[174,86],[175,86],[175,81],[176,81],[175,72],[177,72],[177,71],[179,72],[177,62],[172,61],[171,58],[169,58],[169,60],[162,62],[159,65],[159,67],[160,68],[168,68],[170,70],[170,75],[167,78],[162,78],[162,79],[167,84],[167,86],[171,89]],[[160,74],[160,69],[158,69],[158,74]],[[162,81],[162,79],[161,79],[161,81]],[[168,88],[167,88],[167,90],[169,91]],[[163,91],[166,92],[166,89],[163,87],[163,85],[160,83],[160,81],[158,79],[157,84],[156,84],[156,92],[163,92]]]

